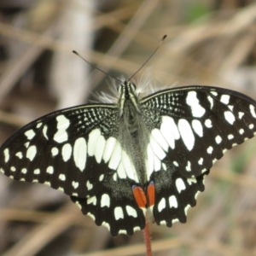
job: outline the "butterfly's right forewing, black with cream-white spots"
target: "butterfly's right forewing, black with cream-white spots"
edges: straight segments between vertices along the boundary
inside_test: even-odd
[[[225,150],[256,131],[255,102],[232,90],[207,86],[164,90],[143,99],[142,108],[151,136],[163,149],[167,143],[166,157],[184,177],[207,172]],[[153,113],[152,119],[148,113]]]

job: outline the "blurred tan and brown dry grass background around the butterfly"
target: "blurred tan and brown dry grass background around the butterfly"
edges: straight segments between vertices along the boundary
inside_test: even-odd
[[[0,0],[0,143],[21,125],[110,93],[149,69],[154,87],[208,84],[256,99],[256,1]],[[256,139],[212,168],[187,224],[150,224],[154,255],[256,255]],[[144,255],[67,195],[0,175],[0,255]]]

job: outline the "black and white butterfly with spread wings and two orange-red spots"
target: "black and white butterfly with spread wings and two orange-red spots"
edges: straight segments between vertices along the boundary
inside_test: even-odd
[[[0,171],[71,196],[113,236],[186,222],[204,178],[227,149],[256,132],[256,102],[233,90],[186,86],[49,113],[0,148]]]

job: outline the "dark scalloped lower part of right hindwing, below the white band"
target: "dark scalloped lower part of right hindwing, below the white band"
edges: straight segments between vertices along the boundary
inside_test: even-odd
[[[197,195],[205,189],[204,179],[208,171],[199,177],[187,178],[170,161],[164,162],[167,170],[154,172],[151,177],[155,189],[152,212],[156,224],[171,227],[177,221],[187,221],[189,208],[195,207]]]

